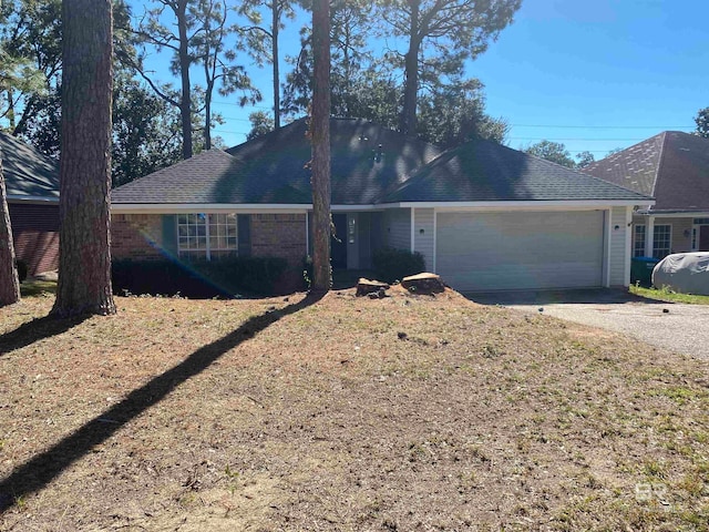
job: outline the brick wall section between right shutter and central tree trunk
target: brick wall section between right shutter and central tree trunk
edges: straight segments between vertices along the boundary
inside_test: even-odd
[[[253,214],[251,255],[285,257],[299,266],[306,256],[306,215]]]

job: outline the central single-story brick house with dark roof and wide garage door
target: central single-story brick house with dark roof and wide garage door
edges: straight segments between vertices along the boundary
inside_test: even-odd
[[[112,192],[116,258],[218,260],[312,249],[305,120]],[[627,286],[629,225],[649,196],[486,141],[443,152],[331,120],[335,268],[381,247],[420,252],[459,290]]]

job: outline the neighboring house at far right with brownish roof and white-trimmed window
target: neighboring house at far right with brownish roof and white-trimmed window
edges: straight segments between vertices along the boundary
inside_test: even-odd
[[[584,172],[654,196],[633,215],[633,256],[709,250],[709,140],[666,131]]]

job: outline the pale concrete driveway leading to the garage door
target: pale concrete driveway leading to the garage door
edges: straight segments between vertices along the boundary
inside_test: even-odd
[[[625,332],[647,344],[709,359],[709,306],[664,303],[625,290],[466,294],[475,303]]]

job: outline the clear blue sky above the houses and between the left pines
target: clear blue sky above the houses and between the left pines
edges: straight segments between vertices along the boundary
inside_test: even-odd
[[[512,124],[510,146],[547,139],[603,158],[665,130],[693,130],[709,106],[707,20],[706,0],[523,0],[467,74],[485,84],[489,113]],[[269,71],[249,72],[264,92],[257,109],[268,111]],[[254,108],[216,100],[226,123],[215,134],[243,142]]]

